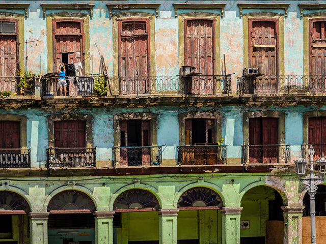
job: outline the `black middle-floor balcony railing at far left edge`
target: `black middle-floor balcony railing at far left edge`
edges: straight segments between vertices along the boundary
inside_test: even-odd
[[[30,168],[31,149],[0,149],[0,168]]]

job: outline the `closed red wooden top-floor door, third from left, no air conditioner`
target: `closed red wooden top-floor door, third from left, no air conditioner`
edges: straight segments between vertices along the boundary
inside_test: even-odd
[[[121,94],[149,93],[149,20],[119,21]]]

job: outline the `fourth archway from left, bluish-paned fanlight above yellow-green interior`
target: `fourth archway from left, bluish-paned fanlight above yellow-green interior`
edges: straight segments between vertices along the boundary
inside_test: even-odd
[[[195,187],[178,200],[178,244],[221,243],[223,202],[215,191]]]

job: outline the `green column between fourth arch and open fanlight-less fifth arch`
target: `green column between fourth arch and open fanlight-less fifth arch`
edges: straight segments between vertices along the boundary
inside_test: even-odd
[[[242,207],[223,207],[222,243],[240,244],[240,216]]]

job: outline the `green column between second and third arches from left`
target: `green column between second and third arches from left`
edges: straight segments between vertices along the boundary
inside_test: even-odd
[[[95,211],[95,244],[113,244],[114,214],[115,211]]]

